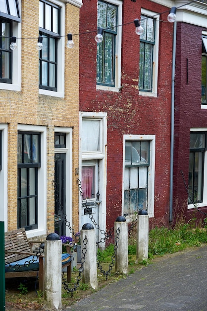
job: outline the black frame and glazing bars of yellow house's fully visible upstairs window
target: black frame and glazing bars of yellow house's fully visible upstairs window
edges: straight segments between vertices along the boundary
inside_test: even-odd
[[[40,0],[40,2],[43,3],[43,23],[44,23],[44,27],[46,24],[46,4],[52,6],[52,8],[56,8],[58,10],[58,24],[57,24],[57,28],[58,28],[58,33],[50,31],[46,28],[42,28],[39,27],[39,34],[40,36],[43,36],[43,46],[44,46],[44,42],[47,40],[47,47],[48,47],[48,55],[47,55],[47,59],[43,58],[43,51],[44,48],[42,50],[39,51],[39,88],[41,89],[46,89],[46,90],[51,90],[51,91],[57,91],[57,41],[60,39],[60,10],[61,7],[59,7],[58,5],[50,2],[50,1],[46,1],[46,0]],[[53,27],[52,24],[52,20],[53,20],[53,15],[52,15],[52,10],[51,10],[51,29]],[[52,29],[53,30],[53,29]],[[50,41],[54,39],[54,61],[50,60]],[[43,63],[47,63],[47,85],[43,85],[42,84],[42,64]],[[50,64],[54,65],[54,86],[50,86]]]

